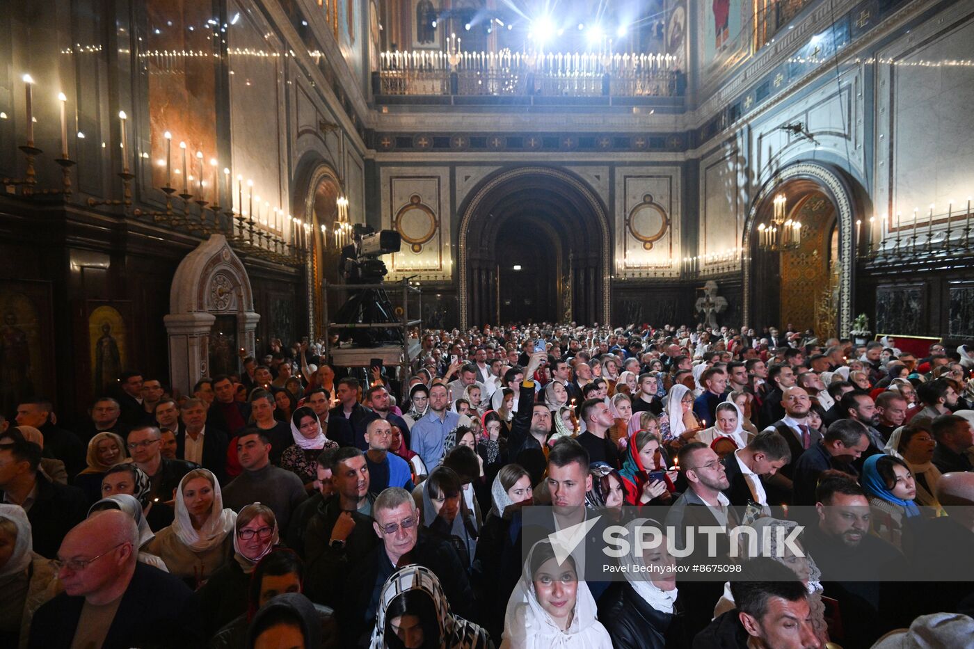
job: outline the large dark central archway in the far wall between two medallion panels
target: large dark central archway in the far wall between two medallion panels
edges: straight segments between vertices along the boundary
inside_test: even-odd
[[[498,172],[471,192],[461,213],[463,328],[529,319],[609,321],[609,221],[581,178],[547,167]],[[526,272],[529,266],[533,271]]]

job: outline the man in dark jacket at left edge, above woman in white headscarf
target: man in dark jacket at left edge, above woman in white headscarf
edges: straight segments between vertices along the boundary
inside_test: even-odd
[[[0,502],[27,511],[34,552],[54,558],[64,535],[88,514],[85,492],[56,484],[38,471],[41,447],[16,426],[0,434]]]

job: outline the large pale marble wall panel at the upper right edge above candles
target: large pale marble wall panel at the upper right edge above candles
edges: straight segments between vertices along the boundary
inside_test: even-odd
[[[912,236],[915,208],[925,230],[931,204],[934,230],[945,228],[948,203],[956,214],[974,194],[972,42],[974,3],[959,2],[879,53],[876,206],[887,240],[901,227]]]

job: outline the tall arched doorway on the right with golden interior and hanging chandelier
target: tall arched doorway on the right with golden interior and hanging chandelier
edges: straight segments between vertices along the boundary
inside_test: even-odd
[[[768,223],[777,195],[786,198],[786,218],[802,222],[798,248],[762,248],[758,226]],[[745,325],[812,328],[820,336],[845,335],[851,323],[856,207],[842,172],[798,163],[762,188],[744,230]]]

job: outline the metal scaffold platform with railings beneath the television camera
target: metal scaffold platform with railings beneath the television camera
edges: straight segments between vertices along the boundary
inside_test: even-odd
[[[419,356],[420,352],[419,338],[410,338],[409,329],[413,326],[421,327],[423,323],[422,320],[409,320],[409,296],[417,296],[417,311],[422,313],[423,291],[416,286],[409,286],[408,280],[405,279],[395,284],[328,284],[327,281],[324,281],[322,283],[322,288],[325,291],[371,288],[386,290],[390,294],[393,294],[393,290],[401,291],[402,318],[394,323],[330,323],[328,322],[328,300],[322,300],[325,322],[324,353],[331,360],[331,363],[337,367],[368,367],[372,364],[372,359],[382,359],[382,363],[386,367],[397,365],[401,368],[400,376],[408,376],[411,363],[413,359]],[[402,340],[404,343],[402,345],[381,345],[378,347],[332,346],[330,334],[333,329],[361,328],[401,329]]]

